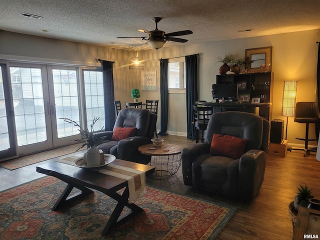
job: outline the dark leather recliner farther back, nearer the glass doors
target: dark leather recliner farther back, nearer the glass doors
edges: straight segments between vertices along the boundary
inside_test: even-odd
[[[127,137],[119,141],[111,140],[113,131],[102,131],[95,135],[104,137],[96,144],[104,153],[115,155],[116,158],[147,164],[151,156],[141,154],[138,151],[140,145],[152,143],[151,138],[155,132],[157,115],[146,109],[123,108],[116,117],[113,130],[119,127],[136,127],[135,136]]]

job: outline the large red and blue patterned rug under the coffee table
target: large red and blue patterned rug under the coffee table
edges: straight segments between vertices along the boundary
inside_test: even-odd
[[[235,208],[147,187],[129,216],[102,237],[116,201],[101,192],[52,211],[66,183],[52,176],[0,192],[0,239],[215,239]],[[72,193],[72,192],[71,192]]]

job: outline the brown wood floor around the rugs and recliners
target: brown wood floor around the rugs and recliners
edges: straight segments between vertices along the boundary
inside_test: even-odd
[[[162,137],[162,136],[161,136]],[[182,146],[194,144],[194,141],[182,136],[163,136],[167,143]],[[42,163],[42,162],[41,162]],[[43,176],[35,171],[32,164],[15,170],[0,167],[0,190],[13,187]],[[293,200],[296,186],[307,184],[315,197],[320,197],[320,161],[315,153],[303,157],[301,151],[287,152],[285,157],[267,155],[264,181],[258,195],[251,203],[241,203],[234,199],[212,196],[206,192],[185,186],[181,169],[168,179],[147,178],[149,186],[196,196],[204,200],[227,203],[237,208],[235,214],[222,229],[217,239],[291,239],[292,223],[288,213],[288,204]]]

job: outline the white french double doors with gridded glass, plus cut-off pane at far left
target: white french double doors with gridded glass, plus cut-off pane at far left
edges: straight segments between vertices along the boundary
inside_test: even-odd
[[[0,108],[1,126],[5,126],[5,118],[7,121],[0,132],[0,158],[6,157],[4,152],[10,148],[2,142],[11,138],[18,155],[70,144],[78,131],[60,118],[80,121],[77,68],[10,63],[8,71],[10,85],[2,87],[2,95],[10,90],[12,95],[7,95],[1,105],[12,104],[15,128],[9,132],[10,114],[4,114],[5,107]],[[4,101],[1,95],[0,101]]]

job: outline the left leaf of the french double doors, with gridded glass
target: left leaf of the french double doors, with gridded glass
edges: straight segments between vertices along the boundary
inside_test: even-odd
[[[45,113],[43,94],[47,85],[42,81],[45,67],[10,66],[9,69],[19,154],[50,147],[50,118]],[[35,148],[30,147],[34,143]]]

